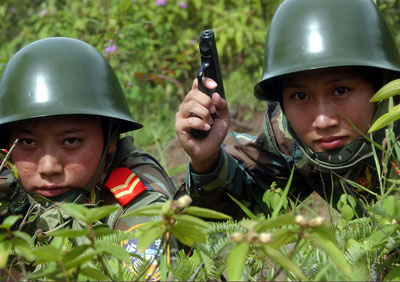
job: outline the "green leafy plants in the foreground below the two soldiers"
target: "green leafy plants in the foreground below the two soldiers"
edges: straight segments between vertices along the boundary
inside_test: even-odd
[[[353,200],[349,199],[343,197],[342,204],[352,206]],[[327,224],[320,216],[307,219],[289,210],[271,218],[258,215],[236,222],[219,212],[189,204],[190,198],[184,196],[125,215],[161,218],[141,225],[134,236],[141,250],[162,238],[158,265],[161,277],[169,280],[365,281],[377,277],[390,280],[398,275],[398,194],[372,204],[368,208],[370,217],[347,219],[341,228]],[[5,254],[0,260],[3,278],[19,268],[27,280],[143,279],[149,262],[142,264],[137,275],[123,267],[133,254],[127,253],[120,242],[131,238],[132,233],[95,223],[114,212],[115,207],[88,209],[72,203],[59,206],[85,228],[58,229],[46,235],[52,238],[47,243],[34,243],[28,234],[14,231],[20,217],[4,219],[0,225],[0,249]],[[200,217],[222,221],[206,222]],[[168,263],[165,250],[171,236],[191,246],[191,255],[182,250]],[[84,240],[77,244],[74,238],[78,237]]]

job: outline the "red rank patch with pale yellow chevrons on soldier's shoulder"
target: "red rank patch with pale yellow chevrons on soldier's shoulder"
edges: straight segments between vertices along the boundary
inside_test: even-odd
[[[139,177],[127,167],[114,169],[104,186],[113,193],[121,206],[125,206],[146,190]]]

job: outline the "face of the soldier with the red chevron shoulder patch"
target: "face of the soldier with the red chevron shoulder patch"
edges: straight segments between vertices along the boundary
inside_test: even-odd
[[[21,184],[33,195],[62,195],[84,188],[95,174],[103,149],[100,118],[60,116],[16,122],[10,142]]]

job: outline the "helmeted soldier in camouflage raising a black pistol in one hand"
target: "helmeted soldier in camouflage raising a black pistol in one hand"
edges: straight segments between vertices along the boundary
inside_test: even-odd
[[[200,92],[196,80],[176,114],[175,130],[190,156],[185,187],[193,203],[241,218],[229,192],[254,212],[268,213],[263,194],[273,181],[285,187],[293,167],[294,199],[316,191],[334,207],[343,193],[368,201],[365,190],[342,180],[379,187],[371,144],[359,131],[366,133],[387,112],[386,102],[370,98],[399,71],[395,41],[372,0],[283,1],[269,26],[264,72],[254,89],[267,104],[261,133],[226,137],[226,101]],[[204,84],[216,88],[212,79]],[[193,128],[209,134],[196,139]],[[394,131],[400,133],[398,123]],[[384,130],[373,139],[382,144]]]

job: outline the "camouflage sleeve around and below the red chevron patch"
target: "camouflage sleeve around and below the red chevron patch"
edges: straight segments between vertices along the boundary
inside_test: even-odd
[[[120,146],[125,147],[125,152],[129,151],[129,154],[128,157],[119,158],[122,161],[119,162],[118,166],[129,168],[140,179],[140,182],[145,186],[145,190],[125,205],[122,210],[112,214],[108,218],[108,223],[113,229],[128,230],[135,233],[136,228],[142,224],[159,220],[160,217],[131,216],[121,218],[121,216],[141,207],[166,202],[173,197],[176,189],[162,166],[151,155],[131,146],[130,142],[131,139],[123,139],[122,143],[120,143]],[[130,253],[141,256],[147,261],[152,261],[146,277],[146,279],[151,281],[159,279],[157,261],[161,252],[161,244],[162,240],[159,238],[144,250],[143,253],[139,253],[137,239],[133,238],[121,242],[121,246]],[[169,238],[169,245],[166,250],[167,258],[170,258],[177,249],[178,244],[176,239],[174,237]],[[141,260],[132,256],[131,264],[127,265],[127,267],[133,274],[137,274],[140,264]]]

